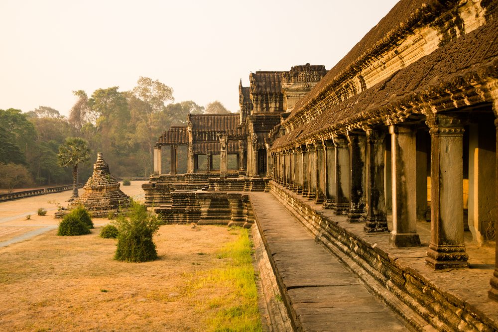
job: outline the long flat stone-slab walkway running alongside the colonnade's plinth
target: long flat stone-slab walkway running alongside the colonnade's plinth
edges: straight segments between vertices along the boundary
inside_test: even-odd
[[[302,331],[406,331],[273,195],[251,193],[263,240]],[[297,318],[297,319],[296,319]]]

